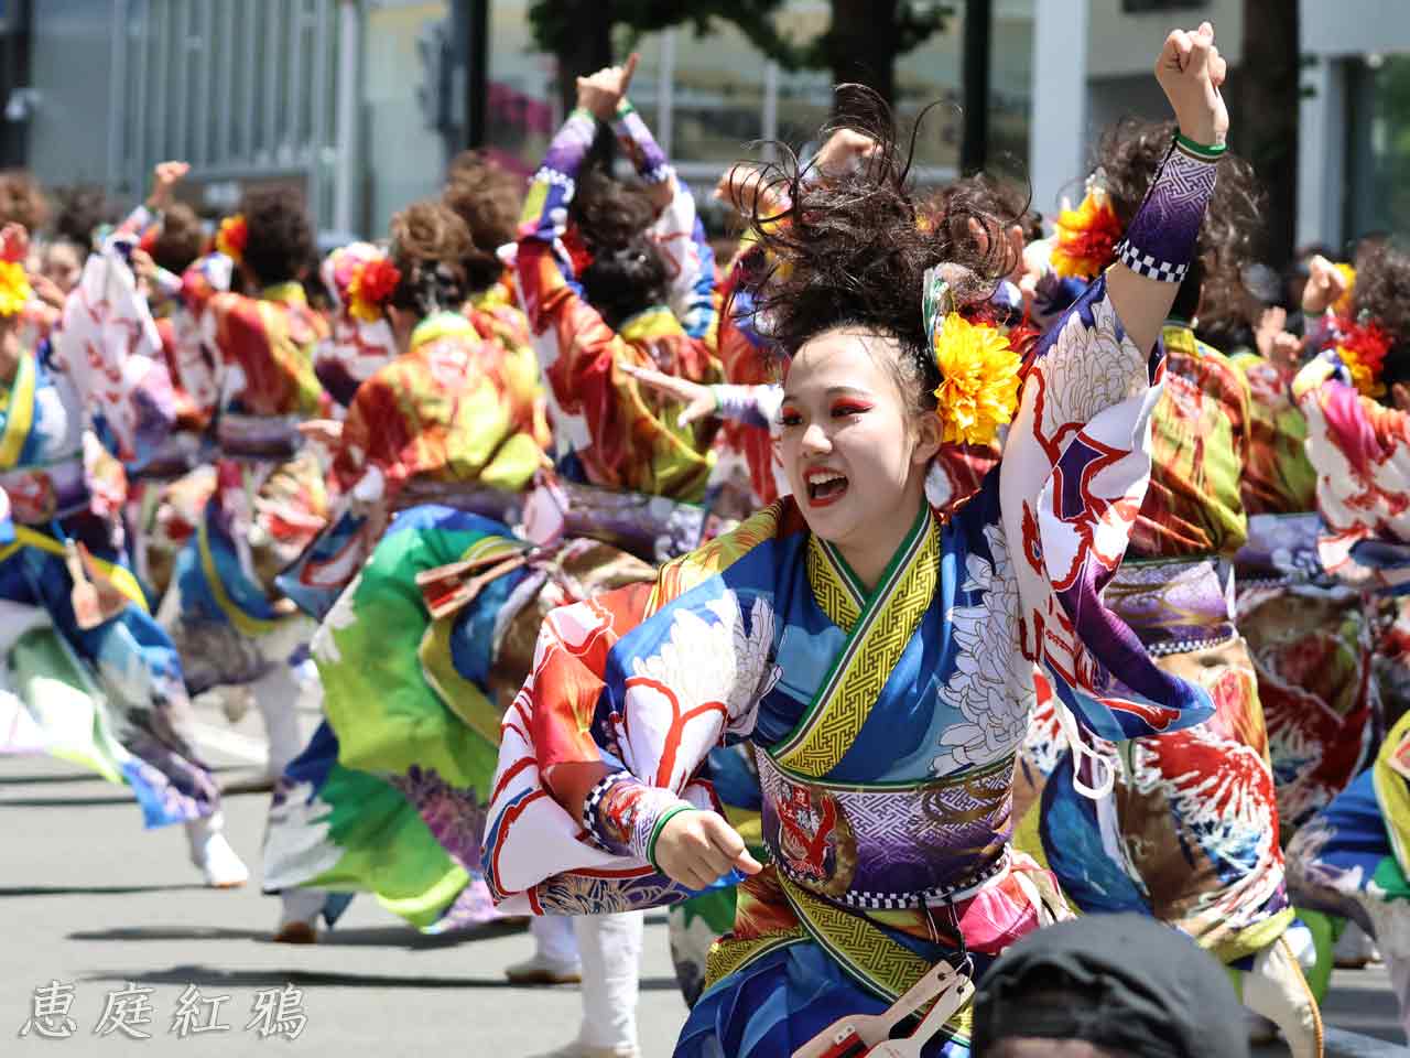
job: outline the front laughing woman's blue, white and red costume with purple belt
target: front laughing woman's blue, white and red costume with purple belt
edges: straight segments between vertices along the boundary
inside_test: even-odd
[[[606,762],[708,808],[708,752],[726,736],[759,750],[773,863],[740,886],[678,1054],[790,1054],[842,1013],[880,1011],[936,959],[969,952],[979,971],[1063,914],[1050,876],[1008,846],[1034,660],[1115,739],[1210,714],[1096,594],[1144,491],[1160,361],[1124,340],[1104,282],[1045,353],[1001,468],[943,525],[924,508],[870,595],[785,499],[654,584],[546,622],[505,718],[485,838],[505,910],[689,896],[591,839],[548,794],[553,767]],[[962,1021],[946,1035],[945,1052],[966,1051]]]

